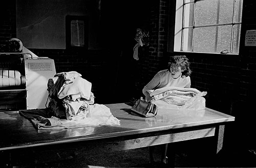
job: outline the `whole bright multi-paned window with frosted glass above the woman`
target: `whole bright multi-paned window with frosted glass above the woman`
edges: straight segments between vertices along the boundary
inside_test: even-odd
[[[177,0],[174,51],[239,53],[243,0]]]

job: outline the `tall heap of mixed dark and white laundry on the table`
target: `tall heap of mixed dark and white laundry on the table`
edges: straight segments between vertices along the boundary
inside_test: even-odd
[[[92,83],[76,71],[58,73],[48,80],[48,107],[19,110],[37,129],[120,125],[108,107],[94,103]]]

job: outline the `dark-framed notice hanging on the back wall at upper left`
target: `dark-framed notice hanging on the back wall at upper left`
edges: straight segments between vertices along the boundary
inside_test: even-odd
[[[88,49],[87,16],[66,16],[66,48]]]

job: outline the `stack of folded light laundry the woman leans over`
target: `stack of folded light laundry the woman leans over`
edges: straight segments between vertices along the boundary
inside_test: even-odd
[[[150,90],[152,102],[159,108],[168,109],[205,109],[206,91],[199,91],[196,88],[181,88],[181,87],[163,87],[155,90]]]

